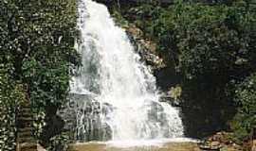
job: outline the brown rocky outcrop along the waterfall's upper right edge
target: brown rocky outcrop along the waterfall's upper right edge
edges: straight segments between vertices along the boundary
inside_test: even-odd
[[[126,25],[124,27],[134,44],[135,50],[154,72],[157,86],[164,92],[168,92],[171,87],[177,85],[179,77],[172,66],[168,66],[157,54],[156,43],[143,37],[143,32],[136,25]]]

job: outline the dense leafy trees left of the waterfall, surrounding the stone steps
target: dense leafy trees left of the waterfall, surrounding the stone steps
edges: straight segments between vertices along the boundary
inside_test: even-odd
[[[1,124],[1,150],[13,150],[14,111],[24,95],[37,119],[35,137],[46,143],[58,133],[43,129],[65,103],[70,69],[80,64],[76,7],[63,0],[0,1],[0,119],[8,121]]]

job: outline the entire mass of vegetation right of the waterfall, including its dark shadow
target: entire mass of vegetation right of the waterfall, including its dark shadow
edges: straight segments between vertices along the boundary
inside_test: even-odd
[[[255,10],[248,1],[178,1],[170,7],[146,4],[121,11],[157,43],[157,53],[178,76],[171,86],[182,88],[187,135],[226,129],[243,141],[255,126]]]

